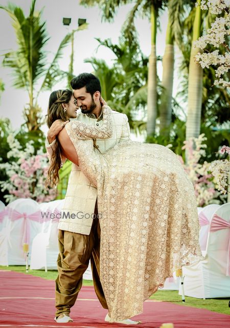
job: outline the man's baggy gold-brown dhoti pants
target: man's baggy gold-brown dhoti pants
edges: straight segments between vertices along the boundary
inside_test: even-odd
[[[97,214],[97,204],[95,208]],[[82,276],[89,259],[95,292],[104,309],[108,309],[100,282],[100,224],[93,220],[89,235],[59,230],[58,277],[55,286],[56,317],[70,313],[82,286]]]

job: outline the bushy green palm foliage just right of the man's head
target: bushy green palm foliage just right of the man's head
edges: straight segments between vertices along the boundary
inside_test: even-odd
[[[139,110],[144,112],[147,103],[148,59],[142,54],[135,39],[131,44],[124,35],[120,37],[119,44],[113,44],[110,39],[97,40],[100,46],[107,47],[116,56],[114,65],[108,67],[104,60],[96,58],[85,61],[91,63],[94,73],[99,77],[102,95],[108,104],[127,114],[131,127],[139,126],[141,122],[137,122],[135,116]]]

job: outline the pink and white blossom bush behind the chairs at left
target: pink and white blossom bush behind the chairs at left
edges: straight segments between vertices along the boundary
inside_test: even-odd
[[[8,176],[6,181],[0,181],[1,190],[8,191],[4,196],[6,201],[21,197],[34,199],[38,203],[54,200],[56,190],[45,187],[49,168],[47,154],[39,149],[35,155],[33,141],[27,142],[25,149],[22,149],[11,126],[8,126],[7,142],[10,146],[7,153],[9,161],[0,164],[0,169],[4,169]]]

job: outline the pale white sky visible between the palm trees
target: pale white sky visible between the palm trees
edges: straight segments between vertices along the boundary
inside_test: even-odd
[[[8,5],[8,1],[1,0],[1,5]],[[25,15],[29,14],[30,0],[14,0],[11,3],[21,7]],[[46,50],[49,53],[49,59],[52,60],[54,54],[58,49],[58,45],[62,38],[73,29],[78,27],[78,18],[85,18],[88,22],[88,28],[84,31],[75,33],[74,40],[74,74],[77,75],[82,72],[93,72],[93,67],[89,63],[84,63],[84,59],[90,57],[96,57],[98,59],[104,59],[110,66],[113,65],[114,55],[109,49],[105,47],[98,48],[98,41],[95,38],[101,38],[102,40],[111,38],[113,43],[117,43],[121,32],[121,27],[126,19],[132,5],[123,6],[118,10],[116,18],[112,23],[105,23],[101,20],[101,13],[97,7],[85,8],[79,5],[78,0],[37,0],[36,10],[41,10],[42,19],[46,22],[47,31],[50,36],[50,40],[47,43]],[[62,24],[63,17],[71,17],[70,27],[65,27]],[[151,47],[151,31],[150,22],[147,18],[135,19],[135,25],[139,32],[139,41],[141,49],[146,56],[150,55]],[[165,48],[165,35],[167,28],[167,13],[160,18],[161,31],[157,35],[157,55],[164,55]],[[0,10],[0,54],[3,55],[10,49],[16,49],[16,38],[14,30],[11,25],[11,19],[9,15]],[[4,31],[4,32],[3,32]],[[97,49],[98,48],[98,49]],[[67,70],[70,63],[71,45],[67,46],[63,51],[63,58],[60,60],[60,68]],[[28,95],[24,90],[18,90],[12,87],[12,70],[2,66],[2,58],[0,57],[0,78],[5,83],[5,91],[2,93],[0,100],[0,117],[9,117],[13,128],[19,129],[20,124],[24,122],[22,111],[25,104],[28,103]],[[158,64],[158,75],[162,76],[162,65]],[[66,81],[62,81],[58,85],[55,85],[54,90],[58,88],[65,88]],[[175,88],[174,88],[175,92]],[[48,100],[51,91],[42,92],[39,95],[38,103],[42,108],[42,113],[47,113]],[[48,131],[48,128],[43,125],[42,130],[44,133]]]

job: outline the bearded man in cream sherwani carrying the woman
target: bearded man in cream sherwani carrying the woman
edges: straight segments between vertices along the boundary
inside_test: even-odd
[[[81,113],[77,119],[91,125],[101,125],[103,113],[100,102],[101,85],[99,79],[93,74],[82,73],[72,79],[71,86],[77,105],[81,108]],[[56,136],[61,129],[63,129],[63,122],[57,120],[48,131],[46,146],[49,158],[55,149]],[[129,139],[130,128],[125,114],[112,111],[112,131],[111,138],[96,140],[101,153],[117,143]],[[62,161],[64,162],[65,158],[62,157]],[[75,164],[72,165],[62,212],[98,214],[97,189]],[[57,260],[58,277],[55,293],[57,311],[55,320],[57,322],[72,322],[73,320],[69,316],[70,309],[75,304],[81,289],[82,276],[88,267],[89,259],[96,294],[103,308],[108,308],[100,283],[100,223],[98,216],[95,219],[88,218],[86,215],[77,215],[77,218],[74,219],[62,217],[58,229],[59,256]],[[109,320],[108,315],[105,320]],[[138,321],[126,319],[120,323],[136,324]]]

